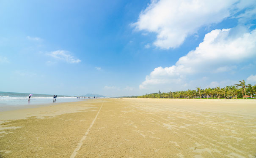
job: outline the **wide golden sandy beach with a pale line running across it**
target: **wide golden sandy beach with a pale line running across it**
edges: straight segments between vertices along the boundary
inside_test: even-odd
[[[93,99],[0,121],[0,158],[256,158],[252,99]]]

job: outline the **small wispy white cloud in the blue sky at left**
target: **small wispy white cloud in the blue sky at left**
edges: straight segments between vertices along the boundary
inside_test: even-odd
[[[69,51],[64,51],[64,50],[51,51],[48,55],[54,57],[55,59],[63,60],[71,64],[81,62],[80,59],[77,59],[74,56],[70,55]]]

